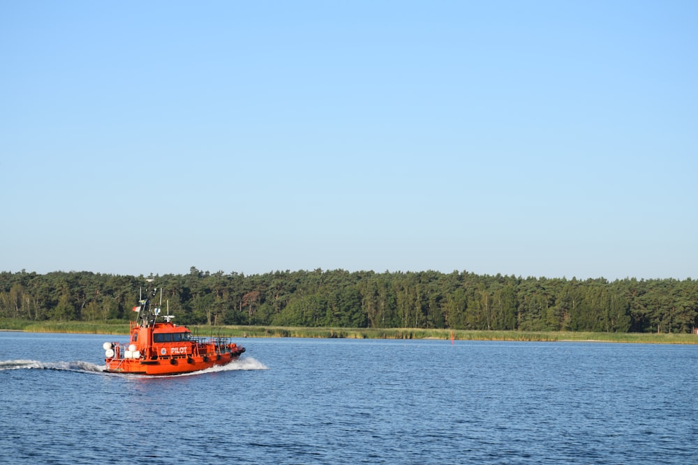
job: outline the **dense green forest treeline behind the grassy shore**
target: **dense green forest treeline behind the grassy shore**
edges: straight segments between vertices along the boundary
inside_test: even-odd
[[[690,333],[698,319],[698,281],[691,279],[320,269],[245,276],[195,267],[161,276],[2,272],[0,318],[132,319],[140,289],[149,286],[181,324]]]

